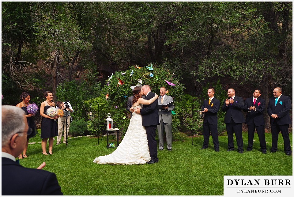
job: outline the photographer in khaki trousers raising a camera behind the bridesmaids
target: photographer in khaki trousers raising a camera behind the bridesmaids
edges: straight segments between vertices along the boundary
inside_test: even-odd
[[[57,143],[56,145],[60,144],[61,136],[62,136],[62,130],[63,132],[63,143],[66,143],[66,136],[68,135],[68,131],[70,130],[70,113],[73,113],[74,110],[70,105],[69,101],[66,102],[61,102],[57,101],[56,102],[56,108],[57,109],[62,109],[63,110],[63,116],[58,118],[58,136],[57,136]],[[67,115],[67,118],[66,118]],[[66,125],[67,123],[67,125]],[[67,130],[67,133],[66,133]]]

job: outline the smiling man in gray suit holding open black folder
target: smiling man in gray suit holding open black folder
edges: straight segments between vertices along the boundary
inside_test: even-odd
[[[169,151],[171,151],[171,110],[175,106],[170,104],[173,102],[172,97],[166,95],[166,88],[164,86],[160,87],[159,90],[160,97],[158,99],[158,115],[159,115],[159,125],[157,125],[158,130],[158,141],[159,141],[159,150],[164,149],[164,138],[163,133],[165,130],[166,134],[166,146]],[[160,105],[162,105],[160,107]]]

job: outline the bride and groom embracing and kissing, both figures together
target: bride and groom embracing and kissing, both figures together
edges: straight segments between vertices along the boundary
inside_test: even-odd
[[[96,157],[97,164],[153,164],[158,162],[155,130],[159,124],[158,95],[149,85],[137,84],[133,90],[133,116],[126,134],[117,149],[109,155]],[[145,99],[141,96],[145,95]]]

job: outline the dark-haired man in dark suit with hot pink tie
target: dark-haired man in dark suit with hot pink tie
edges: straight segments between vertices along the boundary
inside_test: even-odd
[[[252,151],[254,132],[258,134],[260,150],[266,154],[266,138],[264,135],[263,112],[266,107],[266,101],[262,98],[260,89],[253,92],[253,97],[247,98],[244,102],[243,111],[247,112],[245,123],[248,128],[248,146],[246,151]]]

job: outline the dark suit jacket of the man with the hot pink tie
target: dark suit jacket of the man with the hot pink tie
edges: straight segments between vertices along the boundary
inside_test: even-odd
[[[255,106],[256,111],[254,112],[251,110],[248,112],[249,107]],[[264,125],[264,118],[263,118],[263,112],[266,108],[266,100],[258,97],[255,101],[255,105],[253,105],[253,97],[247,98],[244,102],[244,108],[243,111],[247,112],[245,123],[248,125],[251,125],[254,121],[255,126],[261,126]]]

